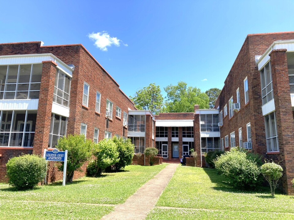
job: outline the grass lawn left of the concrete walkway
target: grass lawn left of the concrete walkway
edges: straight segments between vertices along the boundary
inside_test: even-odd
[[[62,186],[56,182],[33,190],[15,191],[0,184],[0,219],[100,219],[121,204],[167,164],[127,166],[125,171],[83,177]]]

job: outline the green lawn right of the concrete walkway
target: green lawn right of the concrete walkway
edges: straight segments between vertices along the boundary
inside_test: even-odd
[[[294,196],[234,189],[209,168],[179,166],[156,206],[146,219],[294,219]]]

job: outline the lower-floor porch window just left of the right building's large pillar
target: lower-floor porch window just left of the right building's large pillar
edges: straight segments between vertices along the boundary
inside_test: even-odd
[[[267,152],[279,151],[275,112],[264,116]]]

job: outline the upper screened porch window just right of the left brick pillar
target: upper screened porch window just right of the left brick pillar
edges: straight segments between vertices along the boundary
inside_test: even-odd
[[[53,102],[68,107],[70,101],[70,77],[56,69]]]

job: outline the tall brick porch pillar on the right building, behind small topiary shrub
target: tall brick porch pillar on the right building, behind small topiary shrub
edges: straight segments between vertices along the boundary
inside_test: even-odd
[[[294,178],[294,123],[286,51],[286,49],[273,50],[269,53],[269,56],[273,78],[273,97],[275,100],[275,116],[280,150],[279,155],[276,155],[276,159],[282,160],[280,164],[284,170],[281,179],[283,189],[285,193],[293,195],[294,190],[291,180]]]

